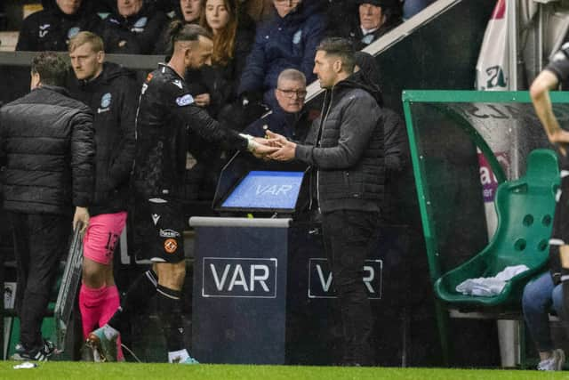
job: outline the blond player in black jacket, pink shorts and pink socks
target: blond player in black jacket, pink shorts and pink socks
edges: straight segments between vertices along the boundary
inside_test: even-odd
[[[77,83],[72,95],[91,107],[95,127],[95,189],[84,236],[79,310],[84,339],[103,326],[120,304],[112,258],[126,222],[129,179],[134,158],[134,116],[139,85],[134,73],[105,62],[99,36],[81,32],[69,44]],[[122,357],[120,343],[117,342]]]

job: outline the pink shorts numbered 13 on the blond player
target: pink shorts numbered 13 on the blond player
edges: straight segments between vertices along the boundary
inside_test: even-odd
[[[125,223],[126,211],[92,216],[83,238],[83,255],[93,262],[108,265]]]

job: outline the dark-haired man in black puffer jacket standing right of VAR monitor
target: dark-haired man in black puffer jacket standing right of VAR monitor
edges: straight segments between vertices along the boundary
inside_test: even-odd
[[[322,114],[305,145],[268,133],[282,145],[270,157],[298,159],[317,170],[325,252],[340,299],[344,365],[372,364],[373,319],[363,278],[379,232],[385,176],[379,87],[356,77],[349,40],[327,38],[317,47],[314,72],[326,89]]]

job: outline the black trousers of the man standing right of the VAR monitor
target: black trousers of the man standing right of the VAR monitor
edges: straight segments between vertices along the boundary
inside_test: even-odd
[[[343,364],[372,365],[372,311],[365,291],[364,263],[379,234],[379,214],[339,210],[322,214],[325,252],[340,301]]]

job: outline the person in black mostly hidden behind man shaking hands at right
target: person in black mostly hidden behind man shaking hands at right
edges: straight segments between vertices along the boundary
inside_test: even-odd
[[[365,85],[377,87],[381,93],[380,67],[373,55],[357,52],[356,77]],[[378,103],[383,106],[383,101],[378,98]],[[384,151],[385,151],[385,192],[381,206],[381,219],[383,222],[398,224],[400,217],[402,191],[399,189],[401,174],[409,163],[409,142],[405,131],[405,122],[392,109],[382,109]]]

